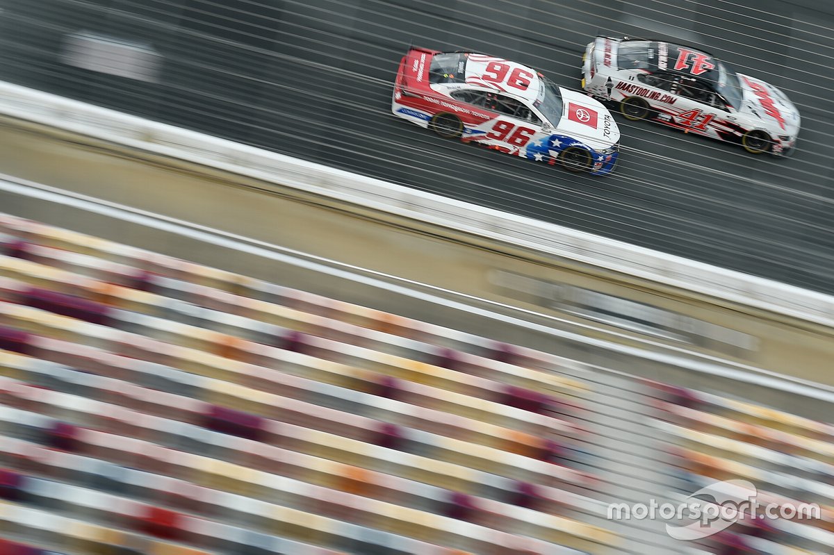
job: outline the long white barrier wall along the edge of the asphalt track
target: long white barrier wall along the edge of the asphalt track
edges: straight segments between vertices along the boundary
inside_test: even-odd
[[[27,87],[0,83],[0,113],[314,193],[344,203],[346,209],[370,208],[731,303],[826,326],[834,324],[834,299],[828,295],[364,178]]]

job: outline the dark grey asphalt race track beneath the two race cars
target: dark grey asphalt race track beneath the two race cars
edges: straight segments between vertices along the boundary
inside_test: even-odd
[[[830,13],[776,0],[755,2],[758,11],[724,0],[5,3],[0,78],[834,293],[834,7],[825,2],[815,9]],[[63,63],[77,32],[149,45],[160,54],[156,82]],[[593,178],[444,141],[389,112],[409,42],[507,57],[578,87],[580,54],[597,32],[702,44],[781,87],[801,111],[796,156],[755,157],[617,117],[620,165]]]

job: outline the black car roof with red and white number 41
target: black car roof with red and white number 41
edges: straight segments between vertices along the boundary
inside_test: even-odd
[[[721,62],[698,48],[662,41],[626,40],[620,42],[617,50],[617,65],[620,69],[669,71],[718,81]]]

